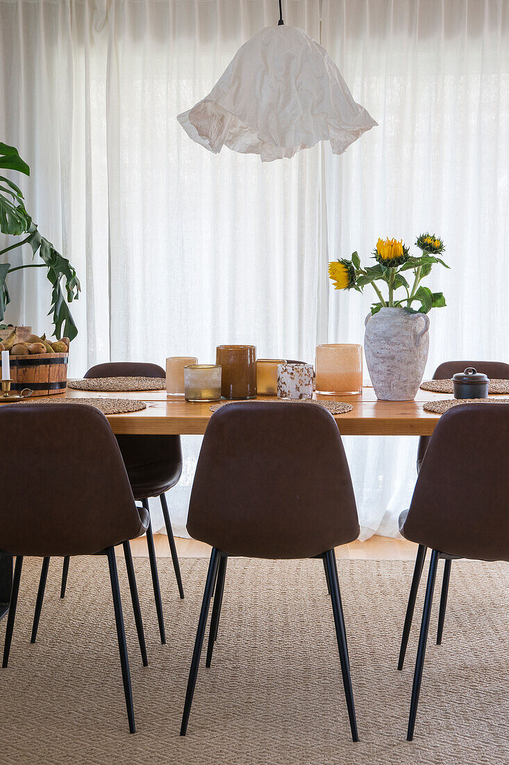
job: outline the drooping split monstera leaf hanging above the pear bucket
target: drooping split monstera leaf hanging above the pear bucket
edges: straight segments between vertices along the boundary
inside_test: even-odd
[[[77,300],[81,286],[76,276],[76,271],[70,262],[60,255],[53,245],[44,239],[37,231],[34,224],[31,226],[31,237],[28,240],[34,255],[38,252],[39,257],[47,265],[47,278],[53,285],[51,291],[51,308],[48,316],[53,312],[53,324],[55,325],[56,337],[69,337],[74,340],[78,330],[74,323],[67,303]],[[66,297],[63,294],[62,282],[66,289]],[[63,327],[63,332],[62,332]]]

